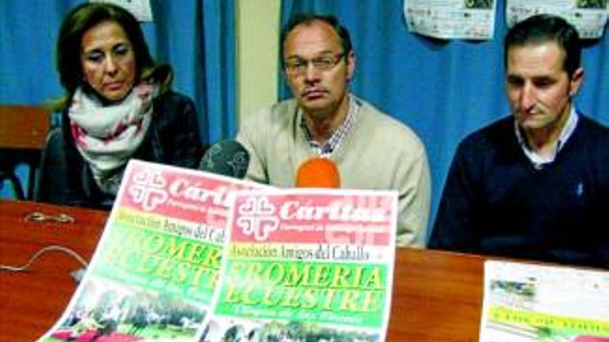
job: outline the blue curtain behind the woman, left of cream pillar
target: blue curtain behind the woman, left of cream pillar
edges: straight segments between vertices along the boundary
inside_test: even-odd
[[[82,2],[0,1],[0,104],[44,104],[62,95],[55,42],[66,13]],[[232,137],[237,126],[235,1],[151,3],[154,22],[143,23],[150,52],[173,67],[173,88],[194,99],[203,142]],[[18,172],[24,181],[25,171],[24,166]],[[0,197],[12,196],[8,188],[0,190]]]

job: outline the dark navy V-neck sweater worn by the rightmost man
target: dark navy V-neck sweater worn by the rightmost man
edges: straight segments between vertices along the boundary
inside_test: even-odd
[[[457,148],[430,248],[609,268],[609,129],[580,115],[536,169],[513,117]]]

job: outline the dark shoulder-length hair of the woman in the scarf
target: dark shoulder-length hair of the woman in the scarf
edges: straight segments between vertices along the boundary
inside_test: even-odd
[[[66,98],[61,101],[60,107],[69,104],[73,93],[84,82],[80,62],[82,36],[87,30],[104,21],[118,23],[125,30],[136,58],[136,82],[152,77],[159,82],[161,92],[170,87],[173,78],[170,66],[154,62],[140,23],[129,11],[109,3],[82,3],[68,13],[57,39],[55,62],[60,82],[66,90]]]

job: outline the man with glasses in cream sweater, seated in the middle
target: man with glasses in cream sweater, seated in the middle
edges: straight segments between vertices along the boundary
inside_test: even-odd
[[[397,190],[397,245],[424,247],[430,199],[425,148],[401,122],[349,93],[355,53],[334,17],[297,15],[281,52],[294,95],[242,122],[237,140],[251,154],[247,178],[293,187],[300,164],[329,158],[340,185]]]

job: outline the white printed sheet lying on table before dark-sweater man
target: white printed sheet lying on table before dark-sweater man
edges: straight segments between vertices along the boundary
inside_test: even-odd
[[[609,341],[609,272],[487,261],[480,342]]]

